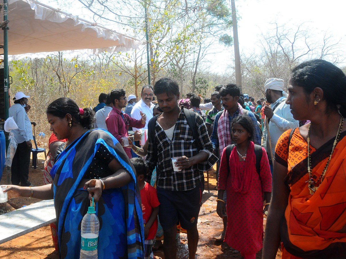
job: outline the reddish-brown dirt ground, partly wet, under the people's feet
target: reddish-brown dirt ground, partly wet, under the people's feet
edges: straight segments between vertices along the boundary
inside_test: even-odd
[[[36,169],[31,167],[29,170],[29,181],[35,186],[43,184],[44,154],[39,153],[39,160]],[[198,219],[199,243],[197,248],[197,257],[200,259],[224,259],[224,258],[242,258],[240,253],[236,253],[225,242],[217,242],[215,237],[222,231],[222,219],[216,213],[216,173],[215,170],[209,171],[209,187],[207,184],[207,174],[205,174],[206,184],[203,192],[202,207]],[[2,176],[1,184],[6,182],[6,170]],[[14,208],[20,208],[24,205],[35,203],[39,200],[28,198],[15,198],[10,200]],[[264,217],[264,226],[266,218]],[[179,253],[177,258],[187,259],[187,237],[181,233],[177,243],[179,244]],[[154,255],[164,259],[162,248],[154,252]],[[256,258],[261,258],[262,251],[258,252]],[[57,259],[58,254],[55,251],[51,229],[49,226],[42,227],[24,236],[18,237],[6,243],[0,244],[0,259]],[[281,259],[281,252],[278,250],[276,259]]]

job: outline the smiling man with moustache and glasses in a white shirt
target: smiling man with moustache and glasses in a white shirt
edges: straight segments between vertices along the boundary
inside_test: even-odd
[[[142,92],[140,96],[142,99],[140,99],[132,108],[131,118],[140,120],[142,118],[140,112],[145,113],[145,115],[147,116],[147,120],[142,129],[147,130],[148,122],[153,117],[153,108],[155,107],[155,105],[152,103],[152,100],[154,98],[153,86],[144,85],[142,87]],[[133,127],[133,131],[136,130],[138,130],[138,128]]]

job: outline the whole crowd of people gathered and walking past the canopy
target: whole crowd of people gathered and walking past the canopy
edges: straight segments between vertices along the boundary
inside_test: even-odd
[[[138,101],[124,89],[101,94],[93,110],[59,98],[46,110],[52,136],[45,185],[30,186],[26,164],[18,163],[5,191],[9,198],[54,198],[61,258],[79,258],[78,226],[94,199],[100,259],[157,258],[162,232],[165,259],[175,259],[177,226],[194,259],[203,172],[216,164],[224,224],[217,240],[245,259],[262,247],[262,258],[274,259],[279,246],[284,259],[345,258],[346,76],[310,60],[293,68],[288,82],[266,80],[264,93],[255,102],[230,83],[207,100],[182,98],[177,82],[164,77],[144,85]],[[17,160],[25,161],[27,98],[17,93],[10,108]]]

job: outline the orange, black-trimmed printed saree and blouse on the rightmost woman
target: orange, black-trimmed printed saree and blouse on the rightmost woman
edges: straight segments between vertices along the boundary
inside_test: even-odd
[[[290,189],[280,229],[283,246],[296,257],[345,258],[346,133],[341,133],[325,178],[316,184],[319,187],[311,195],[307,186],[307,142],[297,128],[288,146],[290,132],[281,135],[275,149],[275,161],[288,167],[284,181]],[[313,179],[317,180],[323,172],[334,140],[317,150],[310,146]]]

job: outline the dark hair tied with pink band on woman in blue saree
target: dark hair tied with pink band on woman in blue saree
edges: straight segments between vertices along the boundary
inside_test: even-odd
[[[71,114],[73,123],[80,123],[84,128],[90,130],[95,122],[95,112],[90,108],[83,108],[84,114],[80,115],[79,107],[70,98],[62,97],[56,99],[48,105],[46,113],[53,116],[64,118],[66,114]]]

